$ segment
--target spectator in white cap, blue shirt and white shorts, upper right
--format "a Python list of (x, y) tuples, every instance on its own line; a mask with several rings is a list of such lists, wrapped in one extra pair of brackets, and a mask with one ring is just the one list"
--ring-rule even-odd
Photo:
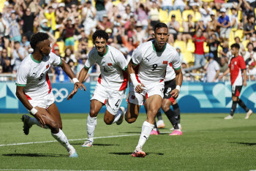
[(218, 26), (220, 26), (220, 37), (223, 39), (229, 39), (230, 37), (230, 18), (226, 15), (226, 9), (222, 8), (220, 9), (221, 16), (218, 19)]

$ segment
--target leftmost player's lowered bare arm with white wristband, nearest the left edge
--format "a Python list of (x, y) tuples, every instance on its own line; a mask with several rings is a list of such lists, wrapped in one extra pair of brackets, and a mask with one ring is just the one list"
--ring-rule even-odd
[(18, 99), (20, 100), (20, 102), (22, 102), (22, 104), (26, 107), (27, 110), (29, 110), (29, 113), (31, 115), (34, 115), (34, 118), (37, 119), (37, 121), (39, 121), (39, 123), (41, 124), (42, 128), (45, 127), (45, 121), (42, 118), (42, 115), (44, 115), (44, 113), (42, 113), (39, 110), (36, 110), (30, 103), (29, 100), (26, 98), (24, 92), (24, 86), (17, 86), (16, 88), (16, 96), (18, 97)]

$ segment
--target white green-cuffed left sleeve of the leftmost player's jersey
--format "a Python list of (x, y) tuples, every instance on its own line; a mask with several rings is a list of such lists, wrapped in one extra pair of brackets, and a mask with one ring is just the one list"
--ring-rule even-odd
[(16, 86), (25, 87), (27, 78), (29, 75), (29, 67), (26, 65), (20, 65), (20, 68), (18, 69), (17, 78), (16, 78)]

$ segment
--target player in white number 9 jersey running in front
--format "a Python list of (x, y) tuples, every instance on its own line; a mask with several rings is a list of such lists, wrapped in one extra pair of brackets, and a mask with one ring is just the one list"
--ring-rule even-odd
[[(174, 98), (178, 97), (183, 78), (178, 53), (174, 47), (166, 43), (169, 37), (167, 25), (157, 23), (153, 36), (155, 40), (145, 42), (135, 49), (128, 64), (128, 72), (132, 83), (129, 87), (126, 121), (128, 123), (136, 121), (144, 99), (146, 99), (144, 106), (147, 111), (147, 118), (142, 126), (140, 140), (132, 153), (134, 157), (146, 156), (142, 148), (154, 128), (154, 119), (162, 104), (167, 65), (172, 63), (176, 72), (177, 86), (176, 89), (170, 92)], [(138, 67), (135, 69), (135, 66)]]

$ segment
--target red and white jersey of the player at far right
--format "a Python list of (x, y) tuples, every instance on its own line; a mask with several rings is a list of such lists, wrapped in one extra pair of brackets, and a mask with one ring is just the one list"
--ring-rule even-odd
[(242, 86), (243, 85), (243, 76), (242, 70), (246, 69), (246, 64), (242, 56), (233, 57), (230, 60), (230, 79), (231, 86)]

